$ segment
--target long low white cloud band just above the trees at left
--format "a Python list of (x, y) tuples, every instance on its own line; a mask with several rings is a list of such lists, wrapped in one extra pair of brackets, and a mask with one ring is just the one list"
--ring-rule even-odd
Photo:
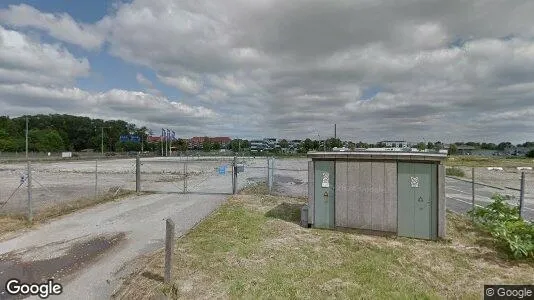
[(112, 89), (88, 92), (79, 88), (52, 88), (28, 84), (0, 84), (0, 106), (12, 114), (31, 109), (58, 113), (91, 113), (109, 118), (142, 120), (174, 127), (209, 124), (218, 118), (213, 110), (151, 95)]

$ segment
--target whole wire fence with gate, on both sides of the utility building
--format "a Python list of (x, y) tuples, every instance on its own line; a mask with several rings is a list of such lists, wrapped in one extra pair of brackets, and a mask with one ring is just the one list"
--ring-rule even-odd
[[(234, 187), (239, 189), (256, 182), (265, 182), (273, 195), (308, 195), (307, 159), (236, 157), (234, 162), (230, 156), (141, 157), (139, 174), (136, 161), (136, 158), (32, 161), (31, 176), (27, 162), (4, 161), (0, 163), (0, 214), (38, 214), (48, 207), (68, 206), (80, 199), (98, 200), (135, 191), (230, 195)], [(234, 165), (242, 169), (234, 169)], [(473, 204), (488, 205), (498, 193), (509, 204), (521, 206), (524, 219), (534, 221), (533, 170), (459, 168), (465, 176), (446, 178), (449, 210), (466, 213)], [(239, 171), (235, 176), (234, 170)]]

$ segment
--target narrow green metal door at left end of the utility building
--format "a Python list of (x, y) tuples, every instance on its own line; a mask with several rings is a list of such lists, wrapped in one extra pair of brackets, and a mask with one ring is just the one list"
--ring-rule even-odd
[(315, 161), (314, 227), (334, 228), (334, 161)]

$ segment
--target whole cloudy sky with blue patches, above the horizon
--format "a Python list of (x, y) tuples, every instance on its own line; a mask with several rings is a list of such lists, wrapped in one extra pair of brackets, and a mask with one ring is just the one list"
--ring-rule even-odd
[(531, 0), (2, 0), (0, 114), (184, 137), (534, 140)]

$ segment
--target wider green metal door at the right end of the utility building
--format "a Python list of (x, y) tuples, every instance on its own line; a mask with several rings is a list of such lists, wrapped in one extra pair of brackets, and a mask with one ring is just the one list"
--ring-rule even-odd
[(437, 236), (437, 168), (435, 164), (398, 163), (397, 232), (399, 236)]

